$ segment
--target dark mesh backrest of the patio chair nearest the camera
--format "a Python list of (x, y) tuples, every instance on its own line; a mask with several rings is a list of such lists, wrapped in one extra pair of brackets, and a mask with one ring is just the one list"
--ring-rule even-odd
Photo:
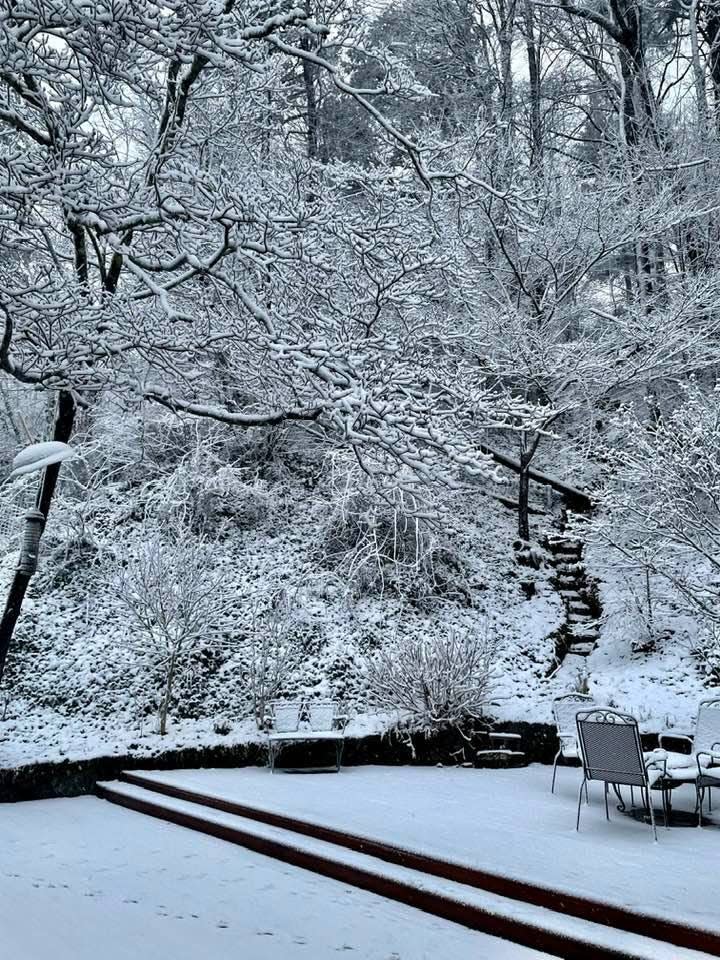
[(578, 740), (588, 780), (645, 786), (647, 773), (637, 720), (607, 707), (581, 710)]

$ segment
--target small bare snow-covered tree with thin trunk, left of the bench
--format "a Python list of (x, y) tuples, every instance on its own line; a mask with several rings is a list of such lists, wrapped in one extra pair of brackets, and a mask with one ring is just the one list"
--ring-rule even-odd
[(213, 545), (186, 539), (180, 529), (151, 535), (113, 586), (128, 610), (141, 663), (160, 672), (159, 732), (167, 718), (175, 681), (203, 646), (220, 642), (231, 598), (223, 570), (213, 566)]

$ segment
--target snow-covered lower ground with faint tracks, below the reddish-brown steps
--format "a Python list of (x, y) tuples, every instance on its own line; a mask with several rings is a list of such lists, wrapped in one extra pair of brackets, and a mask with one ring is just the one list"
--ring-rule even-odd
[(93, 797), (8, 804), (2, 821), (14, 960), (544, 956)]

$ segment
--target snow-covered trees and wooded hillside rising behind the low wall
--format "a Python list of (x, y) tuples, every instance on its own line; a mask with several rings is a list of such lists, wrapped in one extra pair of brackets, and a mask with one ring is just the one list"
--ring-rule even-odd
[[(468, 687), (548, 719), (584, 609), (543, 546), (568, 505), (582, 682), (619, 671), (648, 716), (717, 682), (720, 18), (370, 7), (0, 3), (0, 455), (80, 454), (38, 501), (15, 731), (362, 712), (369, 662), (453, 675), (481, 636)], [(169, 685), (108, 586), (155, 536), (146, 613), (212, 542)]]

